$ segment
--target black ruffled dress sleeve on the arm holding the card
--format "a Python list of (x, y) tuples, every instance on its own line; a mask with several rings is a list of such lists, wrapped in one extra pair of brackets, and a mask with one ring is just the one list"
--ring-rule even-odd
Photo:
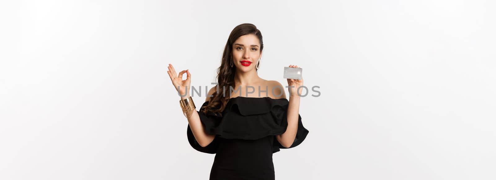
[[(275, 116), (276, 119), (279, 120), (280, 126), (284, 128), (284, 132), (286, 132), (286, 129), (288, 127), (288, 103), (283, 103), (281, 105), (276, 105), (273, 106), (271, 109), (271, 113), (273, 116)], [(300, 145), (307, 135), (309, 134), (309, 130), (307, 130), (302, 123), (302, 116), (298, 114), (298, 130), (296, 131), (296, 137), (295, 141), (293, 141), (293, 144), (291, 144), (290, 147), (284, 147), (279, 143), (277, 138), (274, 136), (274, 145), (272, 148), (272, 153), (280, 151), (280, 149), (288, 149), (292, 147), (296, 147)]]

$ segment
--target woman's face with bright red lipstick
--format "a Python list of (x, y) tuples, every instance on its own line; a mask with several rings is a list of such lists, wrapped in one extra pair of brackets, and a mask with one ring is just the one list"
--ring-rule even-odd
[(233, 60), (238, 70), (248, 72), (256, 69), (256, 63), (262, 55), (260, 41), (255, 35), (249, 34), (238, 38), (233, 43)]

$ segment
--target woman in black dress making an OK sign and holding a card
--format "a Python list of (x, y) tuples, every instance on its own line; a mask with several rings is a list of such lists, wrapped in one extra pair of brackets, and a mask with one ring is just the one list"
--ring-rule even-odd
[[(309, 133), (299, 114), (302, 88), (297, 90), (303, 79), (288, 79), (286, 99), (279, 82), (258, 77), (262, 49), (262, 34), (254, 25), (235, 27), (218, 68), (218, 84), (208, 91), (199, 111), (186, 90), (191, 87), (189, 70), (178, 75), (169, 64), (167, 73), (182, 95), (189, 144), (200, 152), (215, 153), (210, 180), (274, 180), (272, 154), (299, 145)], [(243, 92), (249, 86), (250, 95)]]

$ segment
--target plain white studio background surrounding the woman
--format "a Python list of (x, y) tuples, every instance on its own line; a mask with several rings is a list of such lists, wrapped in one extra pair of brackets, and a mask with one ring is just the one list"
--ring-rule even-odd
[(210, 88), (229, 33), (252, 23), (259, 76), (287, 86), (296, 64), (321, 92), (301, 100), (307, 139), (273, 155), (277, 180), (495, 180), (495, 8), (2, 1), (0, 179), (207, 180), (214, 154), (188, 144), (167, 64)]

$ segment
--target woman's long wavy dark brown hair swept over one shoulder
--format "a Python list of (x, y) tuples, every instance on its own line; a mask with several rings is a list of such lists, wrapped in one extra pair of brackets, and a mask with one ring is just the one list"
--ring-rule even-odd
[[(235, 88), (234, 76), (236, 74), (236, 66), (231, 67), (230, 63), (233, 61), (233, 44), (234, 42), (244, 35), (255, 35), (260, 41), (260, 52), (263, 50), (262, 33), (256, 29), (253, 24), (245, 23), (236, 26), (229, 38), (227, 39), (224, 53), (222, 53), (222, 60), (220, 67), (217, 68), (217, 85), (218, 90), (210, 97), (208, 105), (204, 106), (203, 113), (222, 114), (227, 102), (229, 101), (230, 87)], [(260, 61), (258, 61), (260, 63)], [(256, 70), (258, 71), (258, 70)], [(227, 98), (224, 96), (224, 90)]]

